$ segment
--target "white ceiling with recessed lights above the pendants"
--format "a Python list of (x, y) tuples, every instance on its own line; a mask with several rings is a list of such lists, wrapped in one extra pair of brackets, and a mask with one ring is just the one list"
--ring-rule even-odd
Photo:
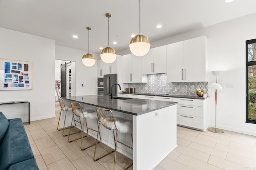
[[(141, 0), (141, 34), (151, 42), (256, 12), (256, 0)], [(139, 0), (0, 0), (0, 27), (54, 39), (56, 45), (100, 53), (129, 49), (139, 33)], [(156, 25), (162, 28), (157, 29)], [(72, 36), (77, 35), (74, 39)], [(112, 44), (116, 41), (117, 44)]]

